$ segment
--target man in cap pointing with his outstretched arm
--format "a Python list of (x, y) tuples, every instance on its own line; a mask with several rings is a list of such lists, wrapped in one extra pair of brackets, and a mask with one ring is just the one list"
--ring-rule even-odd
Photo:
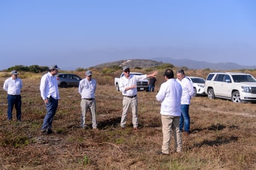
[(126, 127), (127, 112), (129, 107), (132, 109), (132, 124), (134, 130), (138, 130), (138, 114), (137, 114), (137, 81), (141, 81), (145, 78), (157, 76), (157, 71), (153, 74), (145, 75), (130, 75), (129, 66), (124, 66), (122, 69), (124, 76), (119, 80), (119, 89), (124, 96), (122, 101), (122, 118), (121, 118), (121, 128)]

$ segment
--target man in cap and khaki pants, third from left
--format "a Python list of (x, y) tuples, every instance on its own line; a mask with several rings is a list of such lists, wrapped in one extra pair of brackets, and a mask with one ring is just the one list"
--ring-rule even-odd
[(85, 118), (86, 111), (89, 109), (89, 113), (91, 114), (91, 123), (93, 123), (92, 127), (94, 130), (98, 130), (97, 128), (97, 120), (96, 120), (96, 101), (95, 91), (97, 88), (96, 80), (91, 78), (93, 73), (91, 70), (85, 72), (85, 79), (82, 79), (79, 83), (78, 92), (81, 95), (81, 127), (87, 128)]

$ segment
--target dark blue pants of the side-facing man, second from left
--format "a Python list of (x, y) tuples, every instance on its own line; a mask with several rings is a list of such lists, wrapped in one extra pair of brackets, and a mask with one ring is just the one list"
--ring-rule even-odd
[(53, 99), (52, 97), (48, 98), (48, 103), (45, 104), (47, 113), (45, 119), (43, 120), (42, 129), (52, 129), (52, 121), (55, 115), (55, 112), (58, 107), (58, 99)]

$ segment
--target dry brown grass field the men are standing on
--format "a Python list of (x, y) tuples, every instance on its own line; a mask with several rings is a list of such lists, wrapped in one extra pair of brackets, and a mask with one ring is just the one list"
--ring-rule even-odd
[[(81, 73), (83, 77), (83, 73)], [(207, 74), (206, 74), (207, 75)], [(20, 74), (22, 77), (22, 74)], [(41, 135), (45, 107), (40, 75), (24, 78), (22, 122), (7, 122), (7, 95), (0, 78), (0, 169), (255, 169), (256, 105), (194, 97), (190, 105), (191, 134), (183, 151), (160, 156), (162, 125), (157, 92), (138, 92), (139, 131), (120, 128), (122, 94), (111, 85), (96, 91), (99, 131), (80, 128), (77, 87), (60, 89), (52, 135)], [(94, 77), (100, 81), (100, 76)], [(159, 76), (158, 86), (163, 77)], [(14, 117), (15, 117), (14, 109)], [(90, 123), (89, 114), (86, 115)], [(173, 150), (173, 139), (171, 140)]]

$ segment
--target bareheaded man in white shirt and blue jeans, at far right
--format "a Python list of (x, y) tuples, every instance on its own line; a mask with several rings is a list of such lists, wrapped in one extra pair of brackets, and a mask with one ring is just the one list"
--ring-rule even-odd
[(183, 90), (181, 97), (180, 132), (182, 132), (184, 125), (184, 132), (187, 136), (190, 134), (190, 114), (188, 111), (190, 109), (190, 100), (194, 94), (194, 87), (190, 79), (186, 78), (183, 69), (177, 71), (176, 81), (181, 84)]

